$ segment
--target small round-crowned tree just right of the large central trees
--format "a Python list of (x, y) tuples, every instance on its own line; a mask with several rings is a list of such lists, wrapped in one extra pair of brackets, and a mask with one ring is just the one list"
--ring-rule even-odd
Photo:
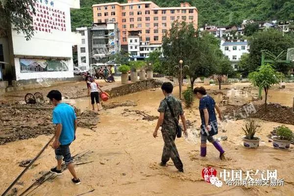
[(216, 76), (219, 82), (219, 89), (221, 90), (221, 83), (223, 82), (223, 76), (231, 74), (233, 72), (233, 68), (231, 62), (228, 58), (221, 55), (221, 58), (217, 59), (217, 66), (216, 66)]

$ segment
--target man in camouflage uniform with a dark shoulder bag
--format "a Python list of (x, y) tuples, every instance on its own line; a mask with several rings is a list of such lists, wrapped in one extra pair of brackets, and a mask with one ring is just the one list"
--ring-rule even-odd
[(170, 103), (177, 120), (179, 120), (179, 117), (181, 117), (182, 123), (184, 125), (184, 133), (186, 133), (186, 119), (182, 108), (182, 103), (177, 98), (174, 98), (172, 96), (173, 86), (171, 82), (163, 83), (161, 89), (163, 91), (165, 99), (160, 102), (160, 106), (158, 108), (158, 112), (160, 113), (160, 115), (155, 131), (153, 133), (153, 137), (156, 138), (157, 131), (159, 127), (162, 126), (161, 133), (164, 140), (164, 147), (160, 165), (166, 166), (166, 163), (171, 158), (176, 169), (178, 169), (180, 172), (184, 172), (182, 161), (174, 143), (176, 137), (176, 124), (172, 118), (172, 113), (170, 111), (170, 108), (168, 107), (167, 101)]

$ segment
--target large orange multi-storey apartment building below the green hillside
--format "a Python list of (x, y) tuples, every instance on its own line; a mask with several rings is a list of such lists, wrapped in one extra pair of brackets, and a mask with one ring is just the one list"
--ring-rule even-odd
[[(94, 23), (111, 21), (118, 24), (120, 43), (122, 48), (128, 49), (130, 55), (133, 54), (131, 57), (146, 57), (145, 48), (148, 47), (141, 47), (146, 43), (161, 45), (163, 36), (176, 20), (193, 23), (197, 28), (198, 11), (187, 2), (181, 3), (180, 7), (159, 7), (152, 1), (128, 0), (127, 3), (101, 3), (92, 7)], [(135, 49), (136, 44), (131, 43), (130, 38), (138, 39), (140, 47)], [(128, 45), (134, 46), (131, 49)]]

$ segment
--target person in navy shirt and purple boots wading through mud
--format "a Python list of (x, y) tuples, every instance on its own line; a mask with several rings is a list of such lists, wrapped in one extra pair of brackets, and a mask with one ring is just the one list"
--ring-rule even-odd
[(221, 145), (213, 138), (213, 135), (218, 134), (218, 121), (216, 117), (215, 108), (219, 113), (221, 120), (221, 110), (214, 99), (207, 95), (204, 87), (197, 87), (194, 89), (194, 94), (199, 100), (199, 112), (201, 117), (201, 146), (200, 156), (206, 156), (206, 142), (207, 140), (213, 144), (215, 148), (220, 151), (220, 159), (224, 159), (224, 150)]

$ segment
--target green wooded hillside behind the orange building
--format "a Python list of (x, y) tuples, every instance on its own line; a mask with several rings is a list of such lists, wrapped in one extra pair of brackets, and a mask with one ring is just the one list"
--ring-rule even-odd
[[(179, 6), (183, 0), (153, 0), (162, 7)], [(72, 28), (91, 26), (92, 5), (104, 2), (126, 2), (126, 0), (80, 0), (81, 9), (73, 10)], [(294, 19), (294, 0), (186, 0), (196, 6), (199, 25), (240, 24), (243, 19), (290, 20)], [(231, 15), (231, 23), (230, 23)]]

